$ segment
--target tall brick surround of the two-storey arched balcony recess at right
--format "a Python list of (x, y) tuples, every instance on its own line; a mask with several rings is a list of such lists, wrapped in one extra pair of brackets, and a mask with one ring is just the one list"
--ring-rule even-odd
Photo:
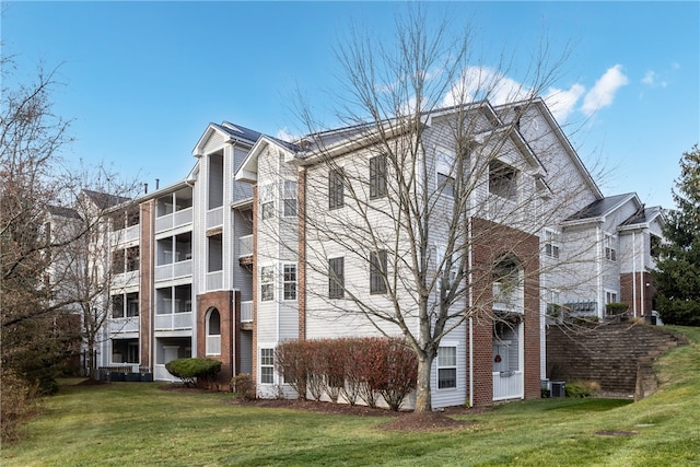
[(539, 374), (539, 238), (505, 225), (472, 219), (474, 317), (474, 405), (493, 400), (492, 343), (493, 312), (492, 275), (499, 258), (510, 256), (523, 268), (524, 305), (524, 394), (540, 397)]

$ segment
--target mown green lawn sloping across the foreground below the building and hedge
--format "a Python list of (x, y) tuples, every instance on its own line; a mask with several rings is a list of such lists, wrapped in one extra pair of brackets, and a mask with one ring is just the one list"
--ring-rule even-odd
[[(700, 328), (657, 363), (660, 390), (635, 404), (539, 399), (459, 416), (459, 431), (396, 433), (387, 418), (223, 404), (158, 384), (61, 387), (18, 444), (9, 466), (586, 465), (700, 464)], [(629, 435), (602, 435), (612, 432)], [(634, 433), (634, 434), (632, 434)]]

